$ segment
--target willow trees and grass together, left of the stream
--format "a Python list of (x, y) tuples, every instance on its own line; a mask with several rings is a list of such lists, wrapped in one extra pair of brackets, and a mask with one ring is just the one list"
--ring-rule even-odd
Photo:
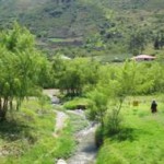
[(54, 163), (69, 156), (75, 145), (72, 129), (68, 122), (59, 138), (52, 136), (55, 114), (42, 95), (49, 62), (32, 34), (14, 24), (1, 33), (0, 51), (1, 163)]

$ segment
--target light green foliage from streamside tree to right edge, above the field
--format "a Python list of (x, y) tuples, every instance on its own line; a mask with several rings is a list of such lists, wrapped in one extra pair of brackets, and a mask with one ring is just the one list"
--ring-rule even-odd
[(101, 122), (99, 129), (102, 128), (101, 133), (97, 132), (97, 143), (102, 143), (104, 136), (115, 136), (121, 131), (120, 113), (127, 96), (162, 92), (164, 73), (161, 69), (159, 62), (133, 61), (126, 61), (119, 67), (101, 67), (101, 79), (96, 87), (87, 93), (87, 97), (92, 99), (87, 110), (89, 118)]

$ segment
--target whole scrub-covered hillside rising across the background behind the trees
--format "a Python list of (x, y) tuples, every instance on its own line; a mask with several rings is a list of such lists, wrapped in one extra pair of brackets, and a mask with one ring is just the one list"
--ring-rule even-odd
[(106, 45), (127, 52), (133, 33), (147, 33), (150, 43), (163, 31), (163, 7), (164, 0), (0, 0), (0, 27), (16, 20), (45, 47)]

